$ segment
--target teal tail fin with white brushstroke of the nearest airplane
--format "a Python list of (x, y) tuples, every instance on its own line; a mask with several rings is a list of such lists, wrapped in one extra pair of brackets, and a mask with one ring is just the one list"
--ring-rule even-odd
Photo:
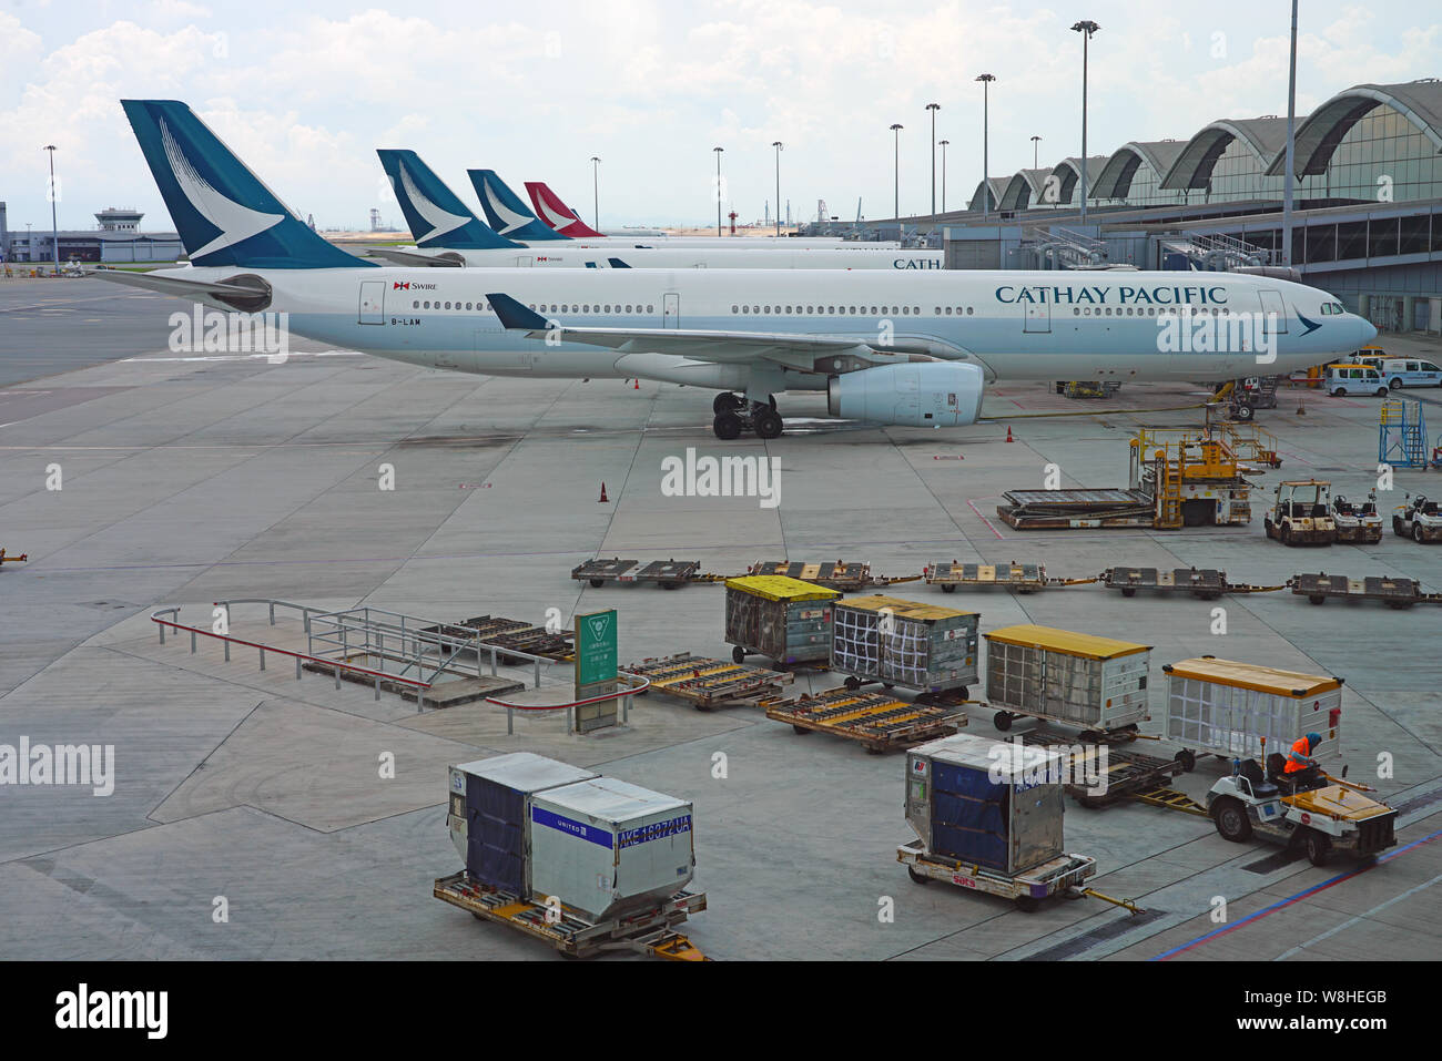
[(307, 228), (183, 102), (120, 105), (193, 265), (373, 267)]

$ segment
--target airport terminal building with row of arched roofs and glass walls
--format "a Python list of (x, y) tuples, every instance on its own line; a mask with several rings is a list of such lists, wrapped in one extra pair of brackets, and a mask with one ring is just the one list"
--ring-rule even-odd
[[(1355, 85), (1295, 130), (1289, 264), (1383, 330), (1442, 333), (1442, 81)], [(868, 225), (930, 234), (950, 268), (1283, 265), (1285, 167), (1285, 117), (1218, 118), (988, 177), (966, 210)]]

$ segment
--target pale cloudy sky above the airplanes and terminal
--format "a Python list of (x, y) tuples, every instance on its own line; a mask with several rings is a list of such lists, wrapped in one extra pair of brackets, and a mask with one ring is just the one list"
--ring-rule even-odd
[[(714, 223), (722, 147), (727, 210), (747, 222), (776, 197), (776, 140), (783, 213), (789, 199), (812, 219), (823, 199), (851, 219), (859, 199), (884, 218), (895, 185), (903, 213), (930, 210), (937, 102), (956, 209), (982, 176), (978, 74), (996, 76), (994, 176), (1032, 164), (1032, 136), (1043, 166), (1080, 154), (1079, 19), (1100, 25), (1092, 154), (1286, 114), (1282, 0), (0, 0), (0, 200), (12, 229), (49, 226), (55, 144), (62, 229), (105, 206), (170, 229), (118, 101), (172, 98), (320, 228), (365, 228), (371, 208), (404, 228), (376, 147), (417, 150), (473, 209), (464, 172), (492, 167), (522, 195), (548, 182), (587, 221), (597, 156), (603, 226)], [(1299, 115), (1355, 84), (1423, 76), (1442, 76), (1442, 9), (1302, 0)]]

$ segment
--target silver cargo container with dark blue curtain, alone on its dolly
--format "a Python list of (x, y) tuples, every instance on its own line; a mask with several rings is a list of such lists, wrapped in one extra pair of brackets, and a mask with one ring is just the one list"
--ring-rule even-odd
[(906, 761), (906, 819), (927, 853), (1012, 876), (1064, 853), (1060, 753), (956, 734)]

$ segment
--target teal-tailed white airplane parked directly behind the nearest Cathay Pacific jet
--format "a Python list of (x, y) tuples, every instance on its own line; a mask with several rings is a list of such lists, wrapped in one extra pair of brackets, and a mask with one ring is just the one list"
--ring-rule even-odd
[[(831, 247), (766, 248), (750, 239), (725, 247), (658, 241), (655, 247), (590, 247), (581, 241), (525, 247), (496, 235), (415, 151), (379, 148), (415, 247), (376, 247), (371, 255), (397, 265), (534, 268), (766, 268), (766, 270), (939, 270), (946, 255), (927, 249)], [(539, 222), (536, 222), (539, 223)]]

